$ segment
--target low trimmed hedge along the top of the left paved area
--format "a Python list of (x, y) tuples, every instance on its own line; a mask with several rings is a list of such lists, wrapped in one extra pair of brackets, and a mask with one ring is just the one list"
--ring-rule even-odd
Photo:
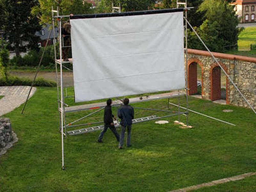
[[(0, 78), (0, 86), (18, 86), (18, 85), (27, 85), (31, 86), (32, 80), (28, 78), (20, 78), (17, 76), (9, 76), (8, 81), (3, 77)], [(55, 87), (57, 84), (54, 81), (48, 81), (44, 78), (37, 78), (33, 86), (36, 87)]]

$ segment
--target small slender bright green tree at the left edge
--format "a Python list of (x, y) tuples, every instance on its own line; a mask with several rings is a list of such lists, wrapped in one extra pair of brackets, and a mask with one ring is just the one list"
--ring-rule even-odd
[(9, 51), (6, 49), (6, 44), (4, 41), (0, 42), (0, 71), (5, 81), (8, 81), (8, 64), (9, 64)]

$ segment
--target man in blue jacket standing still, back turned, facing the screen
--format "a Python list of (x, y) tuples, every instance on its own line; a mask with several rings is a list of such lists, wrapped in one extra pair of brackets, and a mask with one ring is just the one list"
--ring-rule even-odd
[(121, 133), (120, 133), (120, 142), (119, 142), (119, 149), (123, 148), (124, 143), (124, 132), (127, 127), (127, 140), (126, 146), (131, 147), (131, 130), (132, 130), (132, 119), (134, 119), (134, 110), (133, 108), (128, 105), (129, 99), (124, 99), (124, 105), (121, 106), (118, 110), (118, 117), (121, 119), (120, 124), (122, 125)]

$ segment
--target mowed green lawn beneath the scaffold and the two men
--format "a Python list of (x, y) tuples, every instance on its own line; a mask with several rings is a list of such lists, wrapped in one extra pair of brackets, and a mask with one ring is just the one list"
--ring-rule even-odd
[[(171, 102), (177, 104), (178, 99)], [(185, 106), (184, 97), (180, 102)], [(167, 109), (167, 100), (132, 106)], [(193, 129), (174, 125), (178, 116), (165, 118), (170, 123), (164, 125), (134, 124), (132, 148), (123, 150), (117, 149), (110, 130), (104, 143), (96, 142), (100, 132), (68, 136), (64, 140), (66, 170), (62, 171), (56, 88), (37, 88), (24, 115), (20, 115), (22, 106), (5, 115), (11, 118), (19, 141), (0, 157), (0, 191), (169, 191), (256, 171), (256, 118), (251, 110), (192, 97), (189, 106), (236, 126), (192, 113)], [(234, 111), (224, 113), (223, 109)], [(67, 123), (91, 112), (69, 114)], [(154, 114), (167, 115), (135, 110), (136, 118)], [(180, 119), (185, 122), (185, 116)], [(100, 120), (102, 112), (86, 122)], [(242, 182), (241, 189), (251, 191), (255, 189), (252, 179), (232, 182), (232, 186)]]

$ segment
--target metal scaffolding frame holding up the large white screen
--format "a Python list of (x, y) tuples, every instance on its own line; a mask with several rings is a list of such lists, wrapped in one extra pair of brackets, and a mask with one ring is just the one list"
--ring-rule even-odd
[[(150, 120), (155, 120), (155, 119), (160, 119), (160, 118), (165, 118), (165, 117), (170, 117), (170, 116), (178, 116), (178, 119), (180, 121), (180, 115), (185, 115), (186, 116), (186, 124), (188, 126), (188, 113), (190, 111), (190, 112), (194, 112), (196, 114), (203, 115), (205, 117), (208, 117), (208, 118), (220, 121), (222, 123), (227, 123), (227, 124), (235, 126), (235, 124), (231, 124), (231, 123), (222, 121), (220, 119), (217, 119), (217, 118), (214, 118), (214, 117), (211, 117), (211, 116), (206, 116), (204, 114), (201, 114), (201, 113), (198, 113), (198, 112), (195, 112), (195, 111), (192, 111), (192, 110), (188, 109), (188, 79), (187, 79), (187, 77), (188, 77), (188, 24), (189, 23), (188, 23), (188, 20), (187, 20), (187, 11), (189, 9), (193, 8), (193, 7), (187, 7), (187, 0), (185, 2), (178, 2), (177, 1), (177, 8), (179, 8), (180, 5), (184, 5), (184, 8), (182, 8), (182, 9), (183, 9), (183, 11), (185, 11), (185, 17), (184, 17), (184, 21), (185, 21), (185, 26), (184, 26), (184, 29), (185, 29), (185, 35), (184, 35), (184, 38), (185, 38), (185, 48), (184, 48), (184, 51), (185, 51), (185, 55), (186, 55), (186, 66), (185, 66), (185, 94), (183, 94), (183, 95), (186, 96), (186, 108), (183, 108), (183, 107), (180, 106), (180, 90), (178, 90), (178, 95), (176, 95), (176, 96), (168, 95), (166, 97), (161, 97), (161, 98), (159, 98), (159, 97), (148, 98), (147, 97), (144, 100), (133, 101), (133, 102), (130, 102), (130, 103), (143, 102), (143, 101), (156, 100), (156, 99), (168, 99), (168, 101), (167, 101), (168, 109), (169, 109), (169, 105), (173, 105), (175, 107), (178, 107), (178, 111), (169, 111), (169, 110), (160, 110), (160, 109), (152, 109), (152, 108), (134, 107), (136, 109), (142, 109), (142, 110), (152, 110), (152, 111), (162, 111), (162, 112), (172, 113), (171, 115), (165, 115), (165, 116), (161, 116), (161, 117), (157, 117), (157, 116), (154, 116), (152, 118), (142, 117), (142, 118), (139, 118), (139, 119), (141, 119), (141, 121), (136, 120), (135, 123), (145, 122), (145, 121), (150, 121)], [(152, 12), (152, 11), (144, 11), (144, 13), (145, 12)], [(55, 16), (54, 13), (56, 13), (57, 15)], [(122, 13), (118, 12), (118, 13), (110, 13), (110, 14), (115, 14), (115, 16), (119, 16), (119, 15), (116, 15), (116, 14), (120, 14), (120, 16), (121, 16)], [(92, 18), (93, 15), (94, 14), (90, 15), (90, 17)], [(123, 16), (127, 15), (127, 13), (123, 13), (122, 15)], [(68, 107), (68, 108), (65, 107), (65, 106), (68, 106), (68, 105), (65, 103), (65, 100), (64, 100), (65, 97), (64, 97), (64, 92), (63, 92), (64, 86), (63, 86), (63, 70), (62, 69), (65, 68), (65, 66), (63, 65), (64, 63), (72, 63), (72, 59), (69, 59), (68, 61), (63, 61), (62, 60), (62, 48), (63, 48), (63, 46), (62, 46), (62, 38), (61, 38), (61, 36), (62, 36), (61, 35), (61, 20), (62, 20), (62, 18), (67, 18), (67, 17), (69, 17), (69, 15), (61, 16), (61, 15), (59, 15), (59, 9), (57, 8), (57, 10), (53, 10), (53, 7), (52, 7), (52, 27), (53, 27), (53, 33), (55, 33), (55, 30), (54, 30), (54, 28), (55, 28), (55, 19), (57, 19), (57, 21), (58, 21), (58, 29), (59, 29), (59, 46), (60, 46), (59, 47), (59, 52), (60, 52), (60, 59), (57, 59), (57, 51), (56, 51), (56, 43), (57, 43), (57, 41), (55, 39), (55, 34), (54, 34), (53, 43), (54, 43), (54, 58), (55, 58), (55, 70), (56, 70), (56, 82), (57, 82), (57, 97), (58, 97), (57, 98), (57, 102), (58, 102), (58, 112), (59, 112), (59, 117), (60, 117), (59, 118), (60, 119), (59, 131), (61, 132), (62, 170), (65, 169), (65, 167), (64, 167), (64, 136), (67, 137), (67, 128), (103, 123), (102, 121), (100, 121), (100, 122), (92, 122), (92, 123), (84, 123), (84, 124), (73, 125), (74, 123), (77, 123), (77, 122), (81, 121), (82, 119), (85, 119), (85, 118), (87, 118), (89, 116), (92, 116), (92, 115), (98, 113), (99, 111), (104, 109), (104, 107), (106, 105), (105, 102), (102, 102), (102, 103), (94, 103), (94, 104), (91, 104), (91, 105), (90, 104), (80, 105), (81, 108), (79, 108), (79, 106), (76, 106), (78, 108), (75, 108), (75, 109), (72, 109), (72, 107)], [(96, 17), (96, 14), (95, 14), (94, 17)], [(59, 86), (59, 82), (58, 82), (58, 65), (60, 65), (60, 86)], [(179, 105), (175, 105), (175, 104), (169, 102), (169, 99), (172, 98), (172, 97), (178, 97), (179, 98), (179, 100), (178, 100)], [(66, 98), (67, 98), (67, 94), (66, 94)], [(117, 98), (117, 100), (115, 100), (113, 102), (112, 106), (118, 107), (121, 104), (122, 104), (122, 100)], [(184, 109), (185, 112), (181, 112), (180, 108)], [(91, 109), (97, 109), (97, 110), (93, 111), (92, 113), (90, 113), (88, 115), (85, 115), (85, 116), (83, 116), (83, 117), (81, 117), (81, 118), (79, 118), (79, 119), (77, 119), (77, 120), (75, 120), (75, 121), (73, 121), (71, 123), (66, 124), (66, 113), (78, 112), (78, 111), (83, 111), (83, 110), (91, 110)], [(118, 123), (115, 124), (115, 125), (119, 126)], [(100, 128), (100, 126), (98, 126), (98, 127)], [(97, 130), (100, 130), (100, 129), (97, 129)], [(77, 130), (74, 130), (74, 131), (77, 131)], [(94, 131), (94, 130), (92, 129), (92, 131)], [(72, 131), (69, 131), (69, 132), (72, 132)], [(91, 132), (91, 131), (88, 131), (88, 132)], [(82, 133), (83, 132), (78, 132), (77, 134), (82, 134)]]

